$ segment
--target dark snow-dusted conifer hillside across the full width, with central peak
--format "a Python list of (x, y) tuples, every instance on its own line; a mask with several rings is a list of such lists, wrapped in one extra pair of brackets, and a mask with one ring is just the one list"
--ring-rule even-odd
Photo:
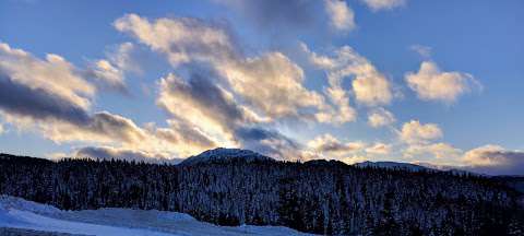
[[(158, 165), (0, 155), (0, 194), (60, 210), (124, 209), (114, 214), (117, 222), (127, 222), (133, 209), (323, 235), (524, 232), (524, 194), (489, 177), (335, 161), (275, 162), (231, 150), (198, 156), (195, 165)], [(141, 224), (147, 221), (155, 220)]]

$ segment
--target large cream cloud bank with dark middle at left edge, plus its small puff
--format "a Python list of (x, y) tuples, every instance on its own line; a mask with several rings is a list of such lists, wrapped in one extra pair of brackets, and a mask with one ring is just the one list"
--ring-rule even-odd
[[(108, 61), (97, 64), (100, 76), (121, 82)], [(134, 145), (147, 134), (128, 118), (107, 111), (90, 113), (96, 88), (85, 70), (64, 58), (46, 60), (0, 44), (0, 115), (21, 130), (36, 130), (55, 142)]]

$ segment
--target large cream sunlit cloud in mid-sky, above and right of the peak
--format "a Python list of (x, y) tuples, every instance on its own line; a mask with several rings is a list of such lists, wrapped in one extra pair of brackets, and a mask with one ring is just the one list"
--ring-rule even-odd
[(236, 94), (274, 118), (299, 117), (320, 108), (323, 97), (303, 86), (303, 71), (281, 52), (217, 66)]

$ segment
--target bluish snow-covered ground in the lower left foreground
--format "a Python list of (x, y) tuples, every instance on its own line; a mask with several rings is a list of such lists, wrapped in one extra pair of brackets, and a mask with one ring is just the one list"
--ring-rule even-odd
[(130, 209), (61, 211), (0, 196), (0, 227), (80, 235), (307, 235), (279, 226), (216, 226), (188, 214)]

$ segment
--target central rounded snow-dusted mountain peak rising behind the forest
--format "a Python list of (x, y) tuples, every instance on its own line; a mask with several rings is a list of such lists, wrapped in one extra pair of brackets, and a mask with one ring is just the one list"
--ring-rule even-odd
[(184, 161), (182, 161), (179, 165), (187, 166), (187, 165), (196, 165), (201, 163), (230, 162), (230, 161), (239, 161), (239, 160), (245, 162), (274, 161), (271, 157), (264, 156), (260, 153), (257, 153), (250, 150), (217, 148), (214, 150), (207, 150), (199, 155), (190, 156)]

